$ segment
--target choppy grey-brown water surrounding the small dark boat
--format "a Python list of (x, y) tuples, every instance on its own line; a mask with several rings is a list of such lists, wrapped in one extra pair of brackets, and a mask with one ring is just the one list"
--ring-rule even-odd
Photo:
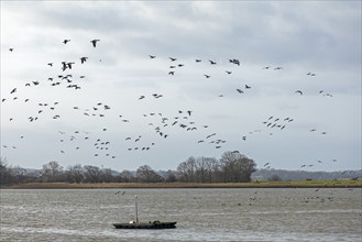
[[(362, 189), (1, 190), (1, 241), (362, 241)], [(172, 230), (117, 230), (134, 220)]]

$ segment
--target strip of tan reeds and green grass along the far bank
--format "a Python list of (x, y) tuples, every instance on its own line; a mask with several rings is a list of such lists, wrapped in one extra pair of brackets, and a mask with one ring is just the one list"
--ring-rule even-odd
[(293, 180), (251, 183), (29, 183), (2, 186), (1, 189), (135, 189), (135, 188), (362, 188), (358, 180)]

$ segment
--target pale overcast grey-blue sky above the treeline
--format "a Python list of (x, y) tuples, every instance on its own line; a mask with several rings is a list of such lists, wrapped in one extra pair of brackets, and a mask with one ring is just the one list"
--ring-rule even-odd
[(360, 1), (1, 1), (9, 164), (176, 169), (227, 151), (361, 169)]

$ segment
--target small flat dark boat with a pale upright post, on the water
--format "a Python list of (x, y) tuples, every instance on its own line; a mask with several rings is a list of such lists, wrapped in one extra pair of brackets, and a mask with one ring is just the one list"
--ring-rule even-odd
[(175, 229), (177, 222), (139, 222), (138, 196), (135, 196), (135, 221), (113, 223), (116, 229)]

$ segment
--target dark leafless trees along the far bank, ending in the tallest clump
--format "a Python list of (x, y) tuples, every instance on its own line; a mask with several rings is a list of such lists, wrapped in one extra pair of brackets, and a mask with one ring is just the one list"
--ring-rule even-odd
[(75, 164), (64, 168), (58, 162), (44, 164), (40, 174), (29, 174), (19, 166), (0, 161), (0, 185), (22, 183), (248, 183), (256, 164), (239, 152), (226, 152), (220, 160), (189, 157), (176, 170), (157, 173), (149, 165), (136, 172), (100, 168), (94, 165)]

